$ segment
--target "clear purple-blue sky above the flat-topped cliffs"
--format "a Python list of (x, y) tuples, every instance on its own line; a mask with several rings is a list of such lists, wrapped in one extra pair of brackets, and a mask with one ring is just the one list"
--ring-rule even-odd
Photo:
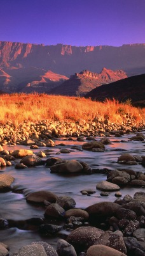
[(35, 44), (145, 43), (145, 0), (1, 0), (0, 40)]

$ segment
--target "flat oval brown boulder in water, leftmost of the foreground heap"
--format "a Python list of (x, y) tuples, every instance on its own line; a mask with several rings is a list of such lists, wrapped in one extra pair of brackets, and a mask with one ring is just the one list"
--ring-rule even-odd
[(32, 192), (29, 195), (27, 195), (26, 200), (27, 202), (31, 202), (31, 203), (44, 203), (44, 201), (48, 201), (51, 203), (56, 202), (58, 196), (55, 195), (54, 193), (50, 192), (50, 191), (36, 191), (36, 192)]

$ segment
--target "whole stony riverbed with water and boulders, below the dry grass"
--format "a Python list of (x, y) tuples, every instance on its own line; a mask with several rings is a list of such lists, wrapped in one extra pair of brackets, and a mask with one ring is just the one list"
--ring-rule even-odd
[(145, 255), (144, 134), (130, 119), (1, 125), (1, 255)]

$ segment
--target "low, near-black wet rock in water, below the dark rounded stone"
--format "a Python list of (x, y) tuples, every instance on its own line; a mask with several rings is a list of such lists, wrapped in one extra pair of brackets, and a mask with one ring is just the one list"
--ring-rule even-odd
[(39, 227), (39, 232), (43, 235), (50, 235), (50, 234), (56, 234), (62, 229), (61, 226), (58, 225), (52, 225), (52, 224), (42, 224)]

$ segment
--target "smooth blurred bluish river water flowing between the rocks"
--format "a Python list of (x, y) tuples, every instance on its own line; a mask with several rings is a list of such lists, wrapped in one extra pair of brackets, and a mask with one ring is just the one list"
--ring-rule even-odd
[[(144, 131), (143, 131), (144, 132)], [(144, 132), (145, 133), (145, 132)], [(118, 157), (123, 153), (130, 153), (132, 155), (145, 156), (145, 143), (141, 141), (128, 141), (132, 134), (125, 134), (121, 138), (111, 136), (112, 144), (106, 145), (105, 152), (90, 152), (81, 150), (83, 142), (79, 142), (76, 138), (73, 140), (64, 140), (64, 138), (56, 140), (56, 146), (52, 149), (49, 157), (61, 157), (62, 159), (76, 159), (78, 161), (84, 161), (89, 164), (90, 167), (95, 169), (114, 170), (116, 168), (128, 168), (135, 172), (145, 172), (145, 168), (141, 164), (137, 165), (121, 165), (117, 163)], [(96, 137), (99, 140), (99, 137)], [(64, 143), (66, 146), (59, 145)], [(78, 146), (78, 149), (73, 149), (72, 146)], [(5, 147), (4, 149), (18, 149), (29, 148), (26, 146), (14, 146)], [(56, 153), (60, 151), (60, 148), (71, 149), (69, 154)], [(48, 148), (47, 148), (48, 149)], [(46, 147), (41, 147), (37, 150), (33, 150), (35, 153), (39, 150), (46, 150)], [(20, 160), (17, 159), (17, 162)], [(15, 165), (1, 169), (1, 173), (7, 173), (15, 177), (13, 186), (17, 188), (19, 193), (13, 193), (9, 191), (7, 193), (0, 193), (0, 218), (11, 220), (13, 225), (10, 228), (0, 230), (0, 242), (8, 244), (10, 246), (10, 255), (13, 252), (17, 252), (18, 248), (31, 244), (33, 241), (46, 241), (47, 243), (56, 246), (58, 236), (41, 237), (38, 230), (27, 230), (24, 228), (25, 220), (30, 218), (44, 218), (45, 207), (40, 205), (28, 204), (25, 200), (25, 195), (29, 192), (47, 190), (52, 191), (57, 195), (72, 196), (76, 200), (76, 207), (85, 209), (89, 205), (102, 201), (114, 202), (116, 197), (114, 192), (109, 196), (100, 196), (100, 191), (96, 190), (96, 193), (87, 196), (82, 195), (81, 190), (96, 189), (97, 182), (106, 180), (106, 174), (93, 173), (92, 175), (83, 175), (82, 173), (75, 175), (58, 175), (56, 173), (50, 173), (50, 168), (45, 166), (34, 166), (24, 170), (15, 170)], [(20, 191), (23, 191), (20, 193)], [(121, 189), (122, 196), (133, 196), (136, 191), (144, 191), (144, 188), (132, 188), (126, 186)], [(58, 224), (58, 223), (56, 223)], [(26, 229), (26, 230), (25, 230)]]

